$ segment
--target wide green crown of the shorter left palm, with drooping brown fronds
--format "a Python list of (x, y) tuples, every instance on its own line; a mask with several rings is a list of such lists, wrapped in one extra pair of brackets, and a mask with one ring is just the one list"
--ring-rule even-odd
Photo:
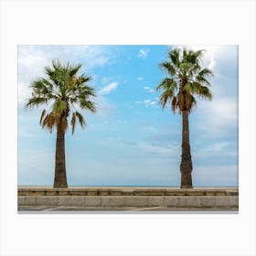
[[(70, 107), (96, 112), (95, 103), (91, 101), (96, 96), (94, 89), (87, 84), (91, 77), (79, 75), (81, 64), (62, 64), (58, 59), (52, 60), (51, 67), (45, 67), (47, 77), (34, 80), (31, 83), (31, 98), (26, 107), (35, 107), (50, 103), (50, 111), (43, 110), (40, 116), (42, 128), (52, 132), (53, 128), (61, 129), (64, 133), (68, 129)], [(86, 124), (80, 112), (73, 112), (71, 117), (72, 133), (76, 126), (76, 119), (84, 127)]]

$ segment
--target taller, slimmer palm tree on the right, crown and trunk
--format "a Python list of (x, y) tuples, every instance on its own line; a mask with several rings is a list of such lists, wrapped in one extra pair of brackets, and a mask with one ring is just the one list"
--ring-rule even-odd
[(157, 86), (162, 90), (160, 104), (165, 108), (170, 103), (172, 111), (182, 114), (182, 155), (181, 155), (181, 188), (192, 188), (192, 160), (190, 154), (188, 115), (196, 106), (195, 95), (211, 100), (208, 76), (212, 71), (201, 67), (204, 50), (175, 48), (169, 51), (168, 60), (160, 64), (169, 78), (165, 78)]

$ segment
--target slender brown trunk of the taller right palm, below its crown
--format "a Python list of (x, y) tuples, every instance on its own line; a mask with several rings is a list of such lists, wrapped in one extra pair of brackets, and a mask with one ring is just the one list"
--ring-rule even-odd
[(192, 188), (192, 160), (189, 144), (188, 112), (182, 112), (182, 155), (181, 155), (181, 186), (180, 188)]

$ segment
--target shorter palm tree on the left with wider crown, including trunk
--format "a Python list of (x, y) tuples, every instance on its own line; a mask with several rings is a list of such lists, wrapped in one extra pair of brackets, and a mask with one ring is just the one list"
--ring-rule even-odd
[(27, 101), (27, 107), (48, 105), (41, 113), (40, 124), (51, 133), (57, 130), (55, 177), (53, 187), (68, 187), (65, 161), (65, 133), (68, 129), (68, 118), (74, 133), (76, 122), (81, 127), (86, 122), (79, 109), (95, 112), (95, 105), (91, 97), (95, 96), (94, 89), (87, 85), (91, 80), (84, 74), (78, 75), (81, 65), (62, 65), (59, 61), (52, 61), (52, 68), (46, 67), (47, 78), (40, 78), (31, 83), (32, 97)]

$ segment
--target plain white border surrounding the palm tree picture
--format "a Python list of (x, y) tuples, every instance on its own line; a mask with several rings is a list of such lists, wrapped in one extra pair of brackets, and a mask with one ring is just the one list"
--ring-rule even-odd
[[(1, 255), (256, 255), (255, 24), (253, 0), (2, 1)], [(240, 213), (18, 215), (19, 44), (239, 45)]]

